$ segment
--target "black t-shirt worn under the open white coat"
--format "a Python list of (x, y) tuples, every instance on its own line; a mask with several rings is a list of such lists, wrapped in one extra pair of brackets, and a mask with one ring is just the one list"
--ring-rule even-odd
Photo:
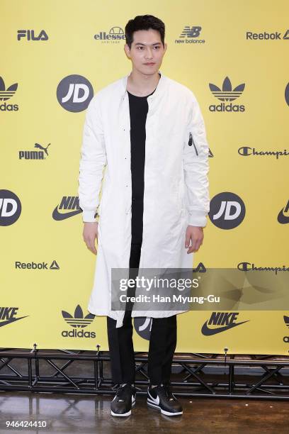
[(130, 169), (132, 172), (132, 243), (142, 243), (145, 189), (145, 123), (149, 109), (147, 96), (135, 96), (128, 91), (130, 101)]

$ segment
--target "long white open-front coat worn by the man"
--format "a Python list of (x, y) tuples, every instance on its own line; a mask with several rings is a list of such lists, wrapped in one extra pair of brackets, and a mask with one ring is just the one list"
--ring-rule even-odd
[[(98, 252), (88, 310), (116, 319), (116, 327), (123, 325), (124, 311), (111, 310), (111, 268), (129, 267), (131, 243), (127, 80), (128, 75), (91, 99), (79, 165), (83, 221), (96, 221), (96, 211), (99, 215)], [(193, 92), (164, 74), (147, 102), (140, 269), (192, 268), (193, 254), (188, 254), (185, 247), (186, 228), (206, 226), (210, 203), (209, 148), (203, 116)], [(181, 312), (132, 310), (132, 317), (162, 318)]]

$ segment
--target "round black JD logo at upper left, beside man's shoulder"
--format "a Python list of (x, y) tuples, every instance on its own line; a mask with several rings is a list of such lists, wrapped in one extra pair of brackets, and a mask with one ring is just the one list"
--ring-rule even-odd
[(94, 96), (91, 83), (82, 75), (67, 75), (57, 87), (57, 101), (67, 111), (86, 110)]

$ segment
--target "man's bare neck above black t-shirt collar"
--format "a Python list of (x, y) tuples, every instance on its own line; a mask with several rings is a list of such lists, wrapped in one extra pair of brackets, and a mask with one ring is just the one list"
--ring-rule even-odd
[(145, 75), (132, 69), (132, 72), (128, 76), (127, 90), (130, 94), (136, 96), (147, 96), (156, 89), (159, 79), (159, 72), (152, 75)]

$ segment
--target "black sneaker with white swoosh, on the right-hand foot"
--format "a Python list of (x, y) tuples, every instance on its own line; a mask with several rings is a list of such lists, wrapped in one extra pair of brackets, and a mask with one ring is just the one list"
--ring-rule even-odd
[(161, 384), (157, 387), (148, 387), (147, 405), (157, 408), (166, 416), (178, 416), (183, 414), (183, 408), (176, 396), (171, 393), (169, 384)]

